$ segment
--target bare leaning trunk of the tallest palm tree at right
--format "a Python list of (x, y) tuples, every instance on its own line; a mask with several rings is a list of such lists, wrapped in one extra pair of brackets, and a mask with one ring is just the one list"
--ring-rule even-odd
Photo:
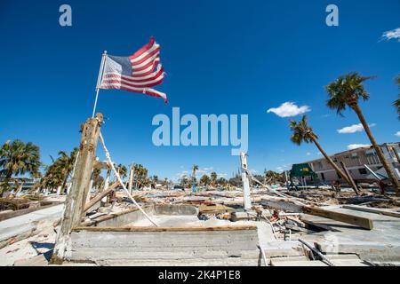
[(399, 195), (400, 193), (400, 182), (398, 181), (395, 172), (392, 170), (392, 167), (390, 167), (388, 161), (385, 158), (385, 155), (383, 154), (382, 149), (378, 144), (376, 143), (375, 138), (372, 136), (372, 132), (370, 127), (368, 126), (368, 123), (365, 121), (364, 115), (361, 111), (360, 106), (355, 105), (351, 106), (353, 110), (356, 112), (358, 119), (360, 120), (361, 124), (363, 124), (365, 133), (367, 134), (368, 138), (370, 138), (372, 146), (375, 148), (376, 154), (378, 154), (378, 157), (380, 158), (380, 162), (383, 165), (383, 168), (385, 168), (386, 172), (388, 173), (388, 178), (392, 182), (393, 186), (396, 189), (396, 194)]

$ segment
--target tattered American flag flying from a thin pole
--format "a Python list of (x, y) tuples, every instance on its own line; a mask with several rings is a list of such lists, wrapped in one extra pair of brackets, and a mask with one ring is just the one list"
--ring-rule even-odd
[(108, 55), (105, 59), (100, 89), (120, 89), (141, 92), (163, 98), (166, 94), (151, 89), (163, 83), (164, 67), (160, 63), (160, 44), (153, 37), (129, 57)]

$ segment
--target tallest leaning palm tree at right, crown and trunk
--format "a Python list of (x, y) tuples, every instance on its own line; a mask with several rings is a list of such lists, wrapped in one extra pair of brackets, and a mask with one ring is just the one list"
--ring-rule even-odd
[(328, 84), (326, 86), (326, 91), (329, 94), (329, 99), (326, 105), (332, 109), (336, 109), (337, 114), (343, 116), (342, 112), (346, 107), (353, 109), (361, 124), (364, 127), (365, 133), (371, 141), (376, 154), (380, 158), (380, 162), (388, 173), (388, 177), (396, 188), (396, 193), (400, 193), (400, 182), (395, 176), (394, 171), (389, 165), (388, 161), (383, 154), (382, 149), (378, 146), (375, 138), (372, 135), (371, 129), (368, 123), (365, 121), (364, 114), (361, 111), (361, 107), (358, 105), (358, 100), (368, 100), (370, 99), (369, 93), (364, 89), (363, 83), (372, 77), (364, 77), (356, 72), (350, 73), (348, 75), (340, 76), (336, 81)]

